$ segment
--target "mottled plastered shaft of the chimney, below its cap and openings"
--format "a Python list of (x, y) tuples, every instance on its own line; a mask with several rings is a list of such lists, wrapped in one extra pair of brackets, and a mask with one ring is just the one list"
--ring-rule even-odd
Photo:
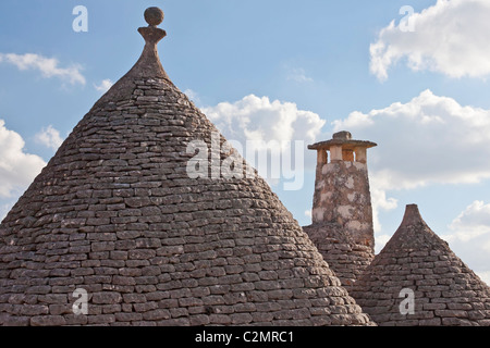
[(375, 248), (367, 164), (334, 161), (318, 165), (313, 222), (338, 223), (358, 245)]

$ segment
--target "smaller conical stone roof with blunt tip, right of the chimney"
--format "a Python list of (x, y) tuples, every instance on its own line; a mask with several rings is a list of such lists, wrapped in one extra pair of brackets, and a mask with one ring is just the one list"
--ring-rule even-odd
[(490, 326), (489, 287), (415, 204), (407, 206), (401, 226), (351, 295), (379, 325)]

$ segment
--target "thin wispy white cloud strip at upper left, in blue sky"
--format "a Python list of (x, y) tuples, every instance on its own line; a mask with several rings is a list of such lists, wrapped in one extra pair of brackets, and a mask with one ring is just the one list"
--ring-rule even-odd
[(60, 67), (57, 59), (46, 58), (39, 54), (0, 53), (0, 63), (13, 64), (21, 71), (37, 70), (44, 77), (59, 77), (72, 85), (85, 85), (86, 83), (85, 77), (81, 73), (79, 65)]

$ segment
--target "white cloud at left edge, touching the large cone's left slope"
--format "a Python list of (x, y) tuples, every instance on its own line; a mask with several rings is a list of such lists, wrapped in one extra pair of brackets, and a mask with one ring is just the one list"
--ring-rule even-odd
[(40, 157), (25, 153), (24, 146), (24, 139), (0, 120), (0, 198), (25, 189), (46, 165)]

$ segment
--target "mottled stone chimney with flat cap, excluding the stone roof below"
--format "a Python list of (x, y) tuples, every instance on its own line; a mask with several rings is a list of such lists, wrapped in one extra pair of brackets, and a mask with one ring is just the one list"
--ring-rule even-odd
[(317, 150), (313, 224), (338, 223), (353, 240), (375, 248), (372, 208), (367, 170), (370, 141), (353, 140), (348, 132), (308, 146)]

